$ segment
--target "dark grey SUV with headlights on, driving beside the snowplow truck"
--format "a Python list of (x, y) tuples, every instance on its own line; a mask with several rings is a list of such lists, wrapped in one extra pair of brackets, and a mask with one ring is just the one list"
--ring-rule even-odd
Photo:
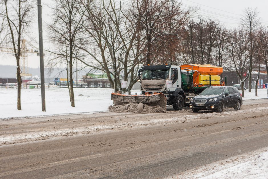
[(199, 110), (214, 110), (222, 112), (224, 107), (240, 110), (243, 104), (242, 95), (235, 87), (209, 87), (190, 100), (193, 112)]

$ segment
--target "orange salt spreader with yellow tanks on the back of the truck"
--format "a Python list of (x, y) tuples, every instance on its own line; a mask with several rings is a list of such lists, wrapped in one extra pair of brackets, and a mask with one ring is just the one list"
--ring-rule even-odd
[(208, 86), (224, 86), (224, 82), (220, 81), (220, 75), (223, 72), (222, 67), (213, 65), (197, 65), (184, 64), (180, 65), (182, 70), (193, 72), (193, 84), (195, 87)]

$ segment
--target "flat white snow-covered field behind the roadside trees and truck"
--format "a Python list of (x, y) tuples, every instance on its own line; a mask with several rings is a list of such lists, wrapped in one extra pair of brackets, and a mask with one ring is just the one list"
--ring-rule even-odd
[[(41, 110), (40, 89), (22, 89), (21, 107), (17, 110), (17, 90), (0, 89), (0, 118), (30, 117), (56, 114), (71, 114), (82, 112), (107, 111), (112, 104), (110, 100), (113, 89), (103, 88), (78, 88), (74, 89), (75, 108), (71, 107), (67, 88), (46, 89), (46, 112)], [(132, 91), (135, 94), (139, 91)], [(267, 89), (245, 91), (244, 100), (267, 98)]]

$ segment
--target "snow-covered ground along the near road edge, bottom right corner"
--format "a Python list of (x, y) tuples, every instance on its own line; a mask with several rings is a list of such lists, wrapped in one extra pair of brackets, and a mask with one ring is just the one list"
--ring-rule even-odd
[(207, 164), (169, 178), (268, 178), (268, 148)]

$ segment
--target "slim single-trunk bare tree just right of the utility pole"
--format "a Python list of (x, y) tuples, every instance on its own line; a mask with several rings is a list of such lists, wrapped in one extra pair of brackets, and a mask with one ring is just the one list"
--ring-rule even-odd
[[(80, 31), (82, 29), (84, 11), (81, 11), (78, 0), (60, 0), (55, 4), (53, 21), (49, 25), (51, 31), (50, 38), (57, 47), (59, 59), (64, 57), (67, 61), (67, 71), (69, 71), (68, 81), (70, 82), (71, 106), (74, 104), (73, 89), (73, 65), (74, 59), (78, 56), (79, 49), (76, 43), (80, 40)], [(67, 82), (67, 83), (69, 83)]]

